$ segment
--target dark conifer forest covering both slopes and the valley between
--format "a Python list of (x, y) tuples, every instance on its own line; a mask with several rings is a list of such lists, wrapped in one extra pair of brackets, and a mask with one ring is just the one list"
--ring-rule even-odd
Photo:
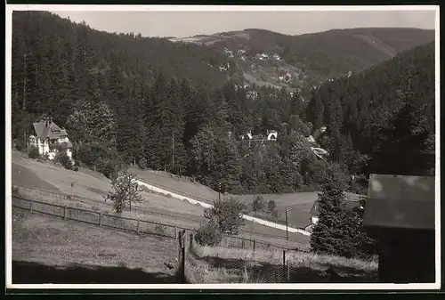
[[(369, 173), (432, 174), (433, 43), (326, 82), (308, 101), (240, 87), (211, 67), (227, 62), (205, 46), (13, 12), (12, 138), (49, 116), (67, 129), (75, 159), (108, 176), (135, 163), (231, 193), (314, 190), (332, 164), (357, 192)], [(306, 140), (321, 126), (322, 159)], [(241, 141), (249, 130), (278, 139)]]

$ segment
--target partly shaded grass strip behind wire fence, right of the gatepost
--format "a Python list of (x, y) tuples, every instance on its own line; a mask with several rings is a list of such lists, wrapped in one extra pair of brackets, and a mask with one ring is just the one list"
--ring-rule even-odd
[[(331, 255), (287, 252), (283, 276), (282, 251), (249, 251), (194, 244), (188, 264), (190, 280), (216, 282), (376, 282), (376, 259), (345, 259)], [(329, 273), (332, 267), (336, 275)], [(286, 276), (287, 273), (287, 276)], [(279, 276), (282, 276), (279, 278)]]

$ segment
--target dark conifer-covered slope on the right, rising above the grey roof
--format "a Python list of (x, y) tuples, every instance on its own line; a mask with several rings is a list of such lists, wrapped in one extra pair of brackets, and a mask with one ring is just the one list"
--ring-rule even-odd
[(353, 174), (431, 174), (434, 72), (434, 43), (418, 46), (321, 85), (312, 91), (307, 119), (328, 126), (320, 143)]

